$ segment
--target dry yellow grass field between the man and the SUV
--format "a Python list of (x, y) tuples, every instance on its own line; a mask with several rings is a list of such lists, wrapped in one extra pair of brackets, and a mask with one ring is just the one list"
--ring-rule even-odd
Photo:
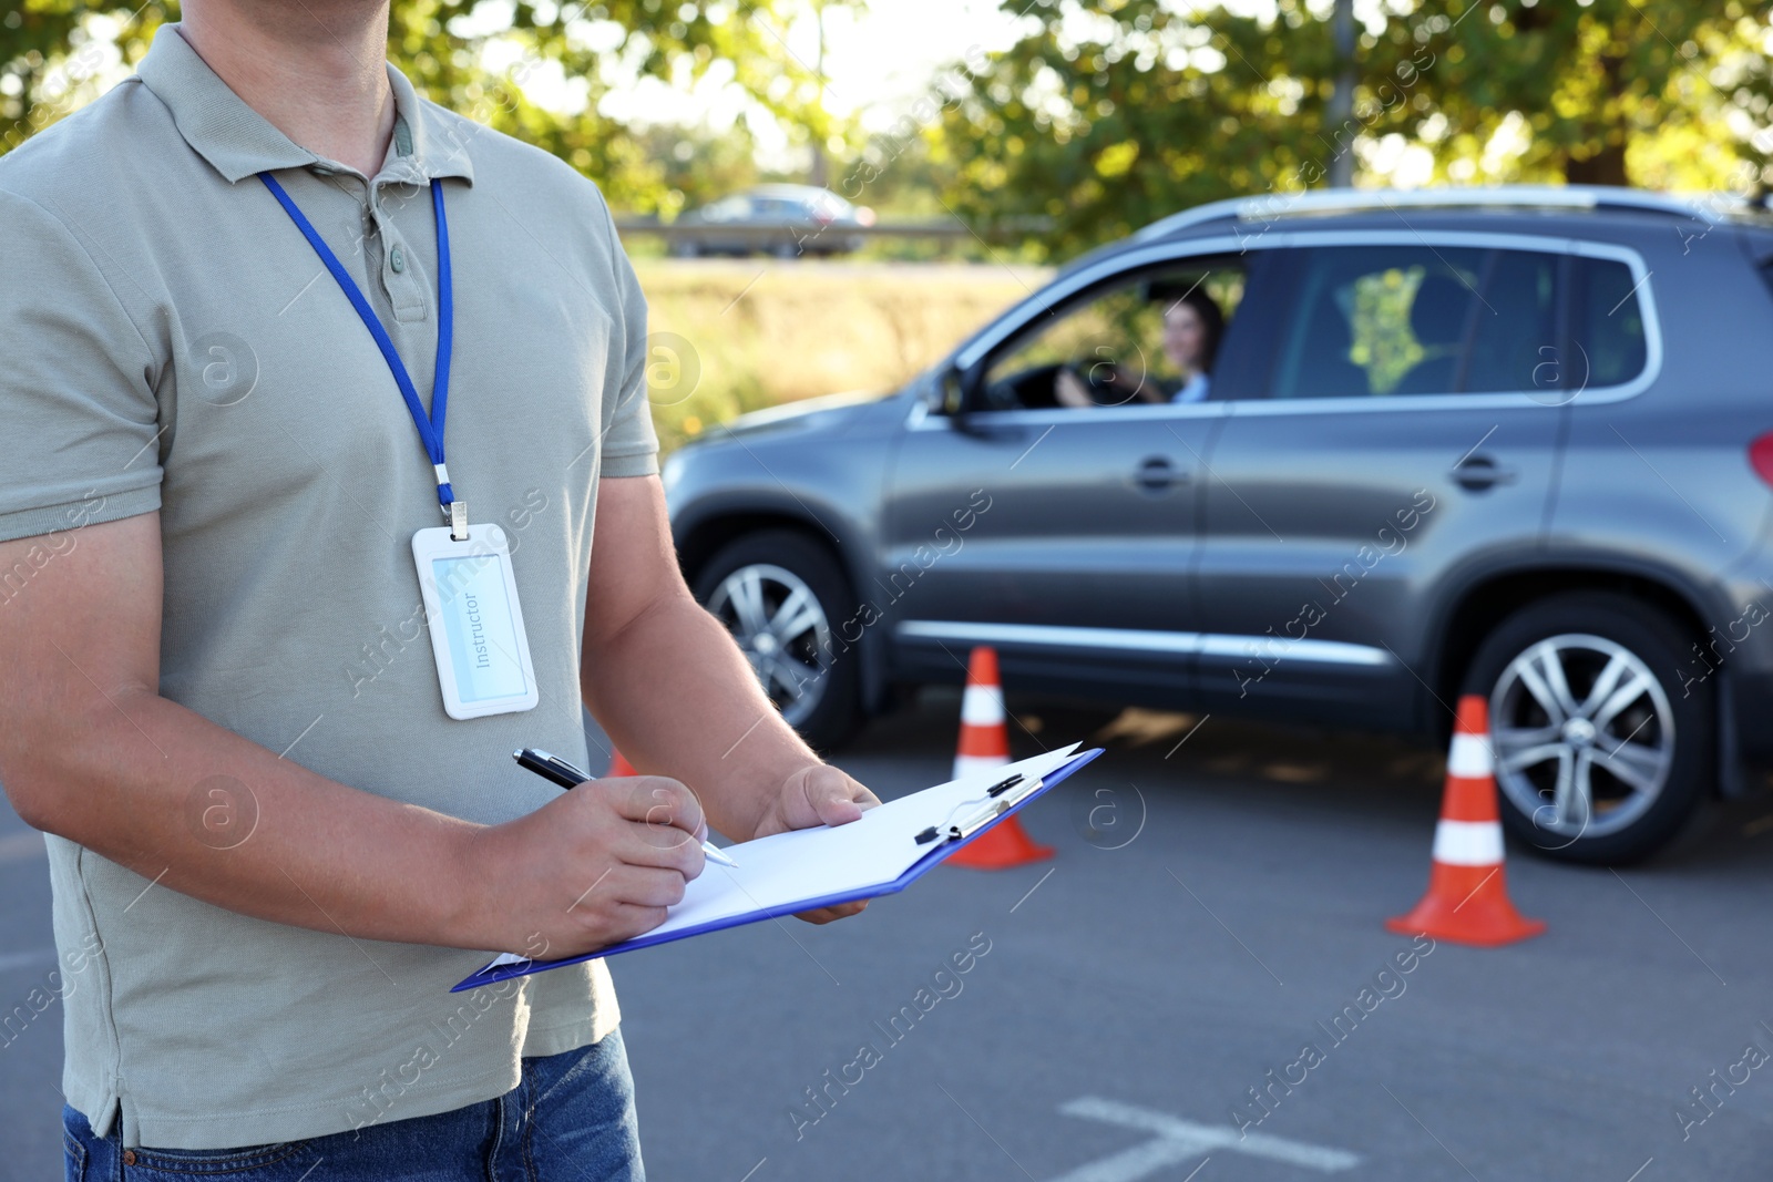
[(1041, 268), (637, 259), (667, 452), (745, 411), (892, 390), (1048, 278)]

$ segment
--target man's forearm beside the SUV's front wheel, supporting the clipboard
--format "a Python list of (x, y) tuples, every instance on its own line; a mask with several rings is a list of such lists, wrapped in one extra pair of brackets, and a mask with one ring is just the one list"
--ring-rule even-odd
[(782, 782), (817, 764), (720, 622), (665, 595), (612, 636), (587, 638), (585, 705), (644, 773), (690, 785), (707, 822), (748, 840)]

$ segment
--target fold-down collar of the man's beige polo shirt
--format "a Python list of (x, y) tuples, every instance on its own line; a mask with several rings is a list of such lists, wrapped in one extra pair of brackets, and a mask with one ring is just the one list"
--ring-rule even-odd
[[(332, 161), (293, 142), (246, 106), (197, 55), (177, 25), (160, 27), (137, 74), (172, 112), (172, 122), (191, 151), (230, 184), (278, 168), (332, 167)], [(461, 177), (472, 184), (473, 165), (463, 138), (452, 133), (436, 108), (418, 99), (413, 83), (394, 66), (388, 66), (388, 85), (394, 89), (395, 122), (381, 175), (410, 183)]]

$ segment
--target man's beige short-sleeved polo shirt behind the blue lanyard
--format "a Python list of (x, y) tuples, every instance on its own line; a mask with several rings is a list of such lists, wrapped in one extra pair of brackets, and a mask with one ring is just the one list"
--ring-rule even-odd
[[(177, 27), (138, 78), (0, 158), (0, 539), (39, 539), (0, 571), (0, 627), (82, 526), (158, 509), (167, 698), (342, 783), (496, 824), (557, 794), (514, 748), (585, 762), (598, 480), (656, 471), (645, 305), (590, 183), (388, 76), (399, 122), (372, 181), (289, 142)], [(535, 711), (443, 712), (410, 548), (441, 525), (431, 463), (261, 170), (349, 268), (426, 402), (443, 177), (449, 468), (472, 517), (511, 535)], [(452, 996), (486, 955), (252, 920), (60, 838), (50, 874), (67, 1100), (101, 1134), (121, 1116), (126, 1145), (449, 1111), (617, 1023), (601, 962)]]

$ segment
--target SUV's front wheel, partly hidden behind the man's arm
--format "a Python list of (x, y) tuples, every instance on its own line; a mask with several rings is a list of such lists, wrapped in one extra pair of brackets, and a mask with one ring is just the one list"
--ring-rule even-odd
[(828, 750), (855, 732), (856, 654), (833, 638), (855, 613), (855, 595), (830, 551), (791, 530), (750, 533), (702, 567), (695, 597), (727, 626), (807, 743)]

